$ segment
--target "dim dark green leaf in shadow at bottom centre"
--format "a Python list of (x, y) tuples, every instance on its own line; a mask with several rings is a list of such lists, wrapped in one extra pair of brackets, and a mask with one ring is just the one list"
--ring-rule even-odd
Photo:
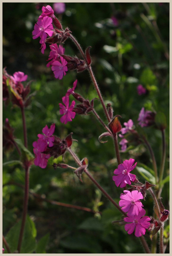
[(90, 217), (90, 218), (86, 219), (84, 222), (82, 222), (78, 226), (78, 229), (102, 231), (103, 230), (103, 225), (98, 219), (96, 219), (94, 217)]

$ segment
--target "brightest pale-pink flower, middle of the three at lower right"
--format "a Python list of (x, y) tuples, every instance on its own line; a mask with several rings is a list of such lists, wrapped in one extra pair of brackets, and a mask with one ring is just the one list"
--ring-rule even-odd
[(142, 210), (142, 203), (139, 199), (143, 199), (143, 195), (138, 190), (124, 190), (120, 195), (119, 206), (124, 212), (128, 211), (129, 215), (138, 215), (139, 211)]

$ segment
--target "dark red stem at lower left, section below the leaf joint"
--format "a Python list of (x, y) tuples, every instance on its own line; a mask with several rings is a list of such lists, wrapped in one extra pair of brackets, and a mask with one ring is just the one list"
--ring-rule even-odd
[(18, 239), (18, 246), (17, 246), (18, 253), (20, 253), (21, 243), (22, 243), (22, 238), (23, 238), (23, 233), (24, 233), (24, 228), (25, 228), (27, 207), (28, 207), (28, 198), (29, 198), (29, 167), (26, 167), (26, 169), (25, 169), (25, 196), (24, 196), (24, 205), (23, 205), (23, 216), (22, 216), (20, 234), (19, 234), (19, 239)]

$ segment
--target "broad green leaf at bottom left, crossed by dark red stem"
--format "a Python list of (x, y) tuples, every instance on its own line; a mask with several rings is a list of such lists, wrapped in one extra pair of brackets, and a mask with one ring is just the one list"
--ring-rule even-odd
[[(17, 250), (20, 227), (21, 227), (21, 220), (19, 220), (8, 231), (5, 238), (12, 252)], [(36, 237), (35, 223), (27, 215), (20, 253), (32, 253), (36, 249), (35, 237)]]

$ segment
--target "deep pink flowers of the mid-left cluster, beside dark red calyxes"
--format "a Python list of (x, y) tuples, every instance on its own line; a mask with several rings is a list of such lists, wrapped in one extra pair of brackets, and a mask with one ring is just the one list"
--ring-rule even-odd
[(41, 168), (45, 168), (47, 166), (48, 158), (50, 158), (50, 154), (43, 153), (47, 150), (47, 147), (52, 147), (54, 142), (54, 136), (52, 135), (55, 130), (55, 124), (50, 126), (45, 125), (42, 129), (44, 134), (38, 134), (38, 141), (34, 141), (32, 146), (33, 152), (35, 154), (34, 164), (40, 166)]

